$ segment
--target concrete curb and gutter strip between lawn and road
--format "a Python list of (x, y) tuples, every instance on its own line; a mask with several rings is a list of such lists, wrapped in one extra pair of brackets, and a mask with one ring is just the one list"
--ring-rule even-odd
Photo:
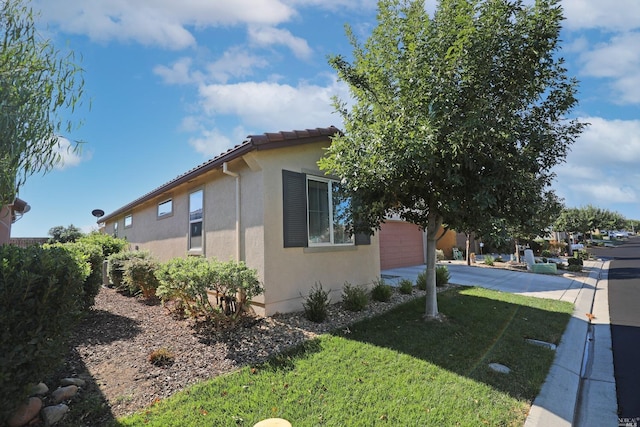
[[(596, 268), (578, 294), (525, 427), (617, 425), (607, 283), (601, 279), (608, 263), (589, 264)], [(587, 314), (595, 316), (592, 322)]]

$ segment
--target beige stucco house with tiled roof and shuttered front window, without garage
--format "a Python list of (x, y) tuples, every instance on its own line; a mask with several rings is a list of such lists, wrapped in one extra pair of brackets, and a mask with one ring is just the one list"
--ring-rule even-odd
[(378, 238), (344, 232), (348, 201), (317, 161), (335, 127), (252, 135), (244, 142), (98, 219), (105, 233), (160, 261), (189, 255), (242, 260), (265, 293), (258, 314), (302, 309), (321, 283), (340, 299), (345, 282), (380, 275)]

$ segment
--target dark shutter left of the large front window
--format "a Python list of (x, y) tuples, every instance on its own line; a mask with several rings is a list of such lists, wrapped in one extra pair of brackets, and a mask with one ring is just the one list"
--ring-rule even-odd
[(284, 247), (308, 246), (307, 237), (307, 176), (282, 171), (282, 219)]

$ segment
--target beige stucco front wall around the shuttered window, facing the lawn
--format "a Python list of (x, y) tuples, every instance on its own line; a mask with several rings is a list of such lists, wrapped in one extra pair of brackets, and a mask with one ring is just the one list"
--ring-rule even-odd
[(326, 144), (306, 144), (288, 149), (286, 153), (275, 150), (260, 154), (264, 170), (265, 254), (264, 280), (269, 286), (265, 292), (266, 314), (302, 309), (302, 295), (319, 282), (323, 289), (332, 290), (332, 301), (341, 299), (345, 282), (353, 285), (370, 285), (380, 275), (380, 253), (377, 236), (370, 245), (348, 247), (285, 248), (283, 242), (283, 194), (282, 170), (313, 171)]

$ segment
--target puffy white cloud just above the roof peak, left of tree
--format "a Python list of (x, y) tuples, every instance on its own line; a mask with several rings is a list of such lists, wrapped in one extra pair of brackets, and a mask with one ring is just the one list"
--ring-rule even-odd
[(210, 116), (236, 115), (252, 128), (269, 131), (336, 125), (331, 97), (344, 94), (342, 84), (329, 86), (299, 83), (245, 82), (200, 87), (203, 111)]

